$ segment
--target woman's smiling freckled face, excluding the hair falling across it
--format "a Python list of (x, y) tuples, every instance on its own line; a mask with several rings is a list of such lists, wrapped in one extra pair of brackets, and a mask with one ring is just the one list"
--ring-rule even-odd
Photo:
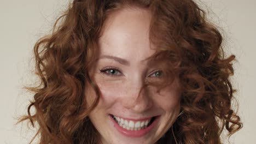
[[(161, 89), (144, 87), (145, 82), (164, 81), (165, 71), (149, 62), (148, 10), (123, 9), (110, 15), (99, 40), (100, 57), (91, 76), (100, 88), (100, 101), (89, 118), (102, 143), (155, 143), (180, 111), (178, 79)], [(141, 90), (141, 92), (140, 92)], [(86, 99), (95, 99), (91, 87)]]

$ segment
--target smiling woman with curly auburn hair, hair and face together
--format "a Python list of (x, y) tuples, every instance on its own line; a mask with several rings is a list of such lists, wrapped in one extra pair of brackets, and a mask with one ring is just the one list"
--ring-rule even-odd
[(221, 43), (191, 0), (73, 1), (34, 47), (22, 120), (42, 144), (221, 143), (242, 127)]

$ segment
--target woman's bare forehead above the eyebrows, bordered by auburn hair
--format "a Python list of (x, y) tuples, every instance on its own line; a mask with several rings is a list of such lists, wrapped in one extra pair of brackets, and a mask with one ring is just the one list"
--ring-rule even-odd
[(142, 61), (153, 55), (150, 46), (150, 11), (122, 9), (110, 14), (99, 39), (100, 55), (117, 56), (129, 61)]

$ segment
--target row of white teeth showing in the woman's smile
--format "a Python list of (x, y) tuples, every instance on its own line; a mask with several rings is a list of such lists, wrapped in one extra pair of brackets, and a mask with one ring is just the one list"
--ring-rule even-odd
[(150, 122), (150, 119), (147, 121), (131, 121), (123, 118), (119, 118), (117, 116), (113, 116), (115, 121), (120, 125), (120, 127), (123, 127), (127, 130), (141, 130), (148, 127), (148, 123)]

